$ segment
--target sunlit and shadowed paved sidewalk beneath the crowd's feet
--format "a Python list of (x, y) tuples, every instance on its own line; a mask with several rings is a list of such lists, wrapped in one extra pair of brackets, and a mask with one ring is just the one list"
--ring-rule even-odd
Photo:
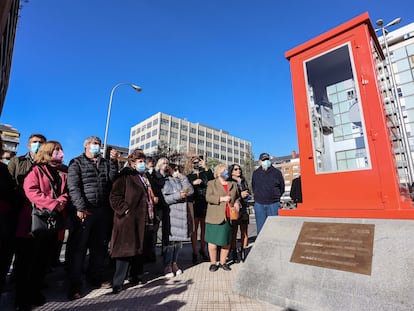
[[(252, 227), (251, 235), (255, 233), (252, 225), (255, 226), (254, 219), (249, 226), (249, 230)], [(254, 237), (249, 248), (253, 245)], [(243, 263), (231, 264), (230, 272), (222, 269), (210, 272), (209, 262), (193, 265), (191, 254), (191, 244), (186, 243), (179, 257), (180, 267), (184, 270), (180, 276), (164, 278), (162, 258), (158, 253), (157, 262), (144, 267), (146, 284), (129, 288), (125, 284), (125, 289), (117, 295), (113, 295), (111, 289), (84, 288), (85, 296), (76, 301), (67, 300), (65, 271), (59, 267), (47, 276), (49, 286), (43, 290), (47, 303), (33, 310), (282, 310), (233, 293), (233, 283)], [(14, 310), (13, 300), (13, 291), (3, 293), (0, 310)]]

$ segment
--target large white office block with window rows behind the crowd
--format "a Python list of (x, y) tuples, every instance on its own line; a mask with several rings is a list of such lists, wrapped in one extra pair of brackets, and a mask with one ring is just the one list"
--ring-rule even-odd
[(192, 123), (162, 112), (145, 119), (131, 128), (129, 150), (141, 148), (146, 154), (155, 154), (158, 146), (167, 146), (170, 152), (203, 155), (226, 165), (242, 165), (251, 154), (251, 143), (230, 135), (222, 129)]

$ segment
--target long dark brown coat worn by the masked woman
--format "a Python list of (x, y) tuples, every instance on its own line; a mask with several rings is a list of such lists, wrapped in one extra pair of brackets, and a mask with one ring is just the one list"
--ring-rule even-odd
[(148, 197), (136, 170), (124, 170), (115, 180), (109, 201), (114, 210), (111, 256), (121, 258), (142, 254)]

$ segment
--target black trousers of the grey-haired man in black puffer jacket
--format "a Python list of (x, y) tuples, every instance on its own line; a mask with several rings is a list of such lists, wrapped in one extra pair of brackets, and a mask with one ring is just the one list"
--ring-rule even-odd
[(109, 208), (89, 210), (84, 222), (76, 214), (71, 215), (69, 225), (68, 260), (69, 281), (71, 291), (80, 290), (82, 272), (87, 250), (89, 249), (89, 264), (87, 278), (94, 285), (103, 281), (105, 258), (108, 257), (108, 230), (110, 222)]

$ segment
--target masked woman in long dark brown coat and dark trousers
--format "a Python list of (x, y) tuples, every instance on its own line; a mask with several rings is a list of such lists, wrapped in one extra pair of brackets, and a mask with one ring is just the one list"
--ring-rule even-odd
[(154, 217), (151, 186), (145, 176), (145, 154), (129, 155), (128, 164), (114, 181), (109, 197), (114, 210), (111, 239), (111, 257), (116, 262), (114, 294), (122, 290), (129, 269), (130, 282), (142, 282), (139, 276), (143, 273), (145, 224)]

